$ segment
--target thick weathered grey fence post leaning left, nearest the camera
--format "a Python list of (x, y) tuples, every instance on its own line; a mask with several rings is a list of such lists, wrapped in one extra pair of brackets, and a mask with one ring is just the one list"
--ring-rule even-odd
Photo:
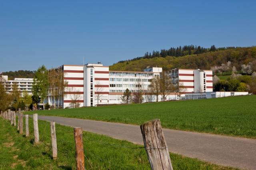
[(173, 170), (160, 119), (140, 125), (140, 130), (151, 170)]

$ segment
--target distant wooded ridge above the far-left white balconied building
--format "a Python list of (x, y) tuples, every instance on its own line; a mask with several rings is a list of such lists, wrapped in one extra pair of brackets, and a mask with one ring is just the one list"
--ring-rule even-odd
[(19, 70), (19, 71), (6, 71), (3, 75), (8, 75), (9, 80), (14, 78), (34, 78), (36, 71)]

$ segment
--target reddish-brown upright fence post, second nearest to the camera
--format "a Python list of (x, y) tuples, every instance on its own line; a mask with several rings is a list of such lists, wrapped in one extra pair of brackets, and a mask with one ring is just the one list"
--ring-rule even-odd
[(76, 144), (76, 169), (84, 169), (84, 145), (83, 145), (83, 130), (81, 127), (74, 128), (74, 138)]

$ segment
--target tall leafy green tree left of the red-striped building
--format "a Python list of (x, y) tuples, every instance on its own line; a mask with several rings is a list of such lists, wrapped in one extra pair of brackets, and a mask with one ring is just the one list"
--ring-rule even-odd
[(32, 93), (35, 98), (39, 98), (43, 102), (44, 105), (44, 99), (47, 97), (47, 91), (48, 91), (48, 70), (44, 65), (40, 66), (36, 73), (35, 77), (33, 78), (33, 87), (32, 87)]

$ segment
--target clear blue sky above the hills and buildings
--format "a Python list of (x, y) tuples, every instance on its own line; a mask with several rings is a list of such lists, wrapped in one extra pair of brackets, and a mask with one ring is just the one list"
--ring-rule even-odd
[(256, 1), (0, 1), (0, 72), (112, 65), (183, 45), (256, 45)]

